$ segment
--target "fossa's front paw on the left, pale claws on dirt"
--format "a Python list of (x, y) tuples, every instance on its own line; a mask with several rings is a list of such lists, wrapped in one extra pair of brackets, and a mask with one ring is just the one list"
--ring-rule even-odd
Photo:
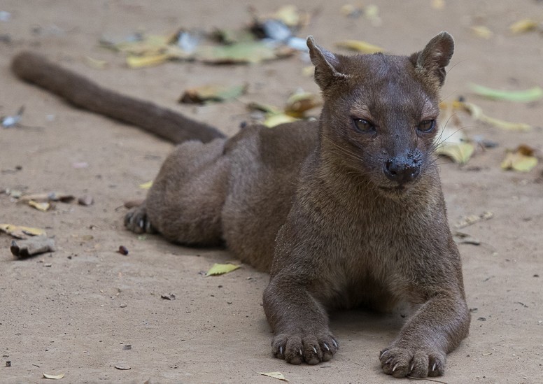
[(274, 356), (290, 364), (306, 362), (314, 365), (327, 362), (338, 348), (337, 341), (331, 334), (278, 334), (272, 341)]

